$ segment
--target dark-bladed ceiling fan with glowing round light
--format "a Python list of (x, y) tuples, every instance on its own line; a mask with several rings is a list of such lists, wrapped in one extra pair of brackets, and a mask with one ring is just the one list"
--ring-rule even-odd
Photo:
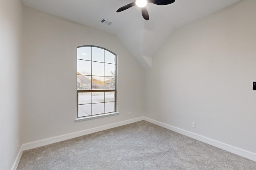
[(134, 0), (134, 2), (127, 4), (125, 6), (122, 6), (116, 12), (121, 12), (137, 5), (138, 7), (141, 8), (141, 13), (143, 18), (145, 20), (149, 20), (148, 10), (145, 7), (148, 3), (152, 3), (156, 5), (168, 5), (168, 4), (172, 4), (173, 2), (175, 2), (175, 0)]

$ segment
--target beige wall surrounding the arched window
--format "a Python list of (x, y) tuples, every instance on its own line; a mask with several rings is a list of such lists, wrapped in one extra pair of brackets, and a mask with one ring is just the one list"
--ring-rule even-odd
[[(119, 115), (74, 123), (80, 45), (97, 45), (118, 55)], [(22, 143), (143, 115), (144, 72), (115, 35), (24, 7), (23, 66)]]

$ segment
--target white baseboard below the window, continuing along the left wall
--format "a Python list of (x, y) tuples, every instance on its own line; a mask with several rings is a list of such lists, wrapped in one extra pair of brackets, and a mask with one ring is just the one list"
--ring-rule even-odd
[(83, 130), (83, 131), (78, 131), (78, 132), (74, 132), (74, 133), (69, 133), (69, 134), (65, 134), (65, 135), (60, 135), (60, 136), (56, 136), (56, 137), (42, 139), (40, 141), (25, 143), (21, 146), (20, 151), (18, 152), (18, 155), (16, 156), (16, 159), (14, 161), (14, 164), (13, 164), (11, 170), (16, 170), (16, 168), (18, 167), (21, 155), (22, 155), (24, 150), (34, 149), (34, 148), (37, 148), (37, 147), (42, 147), (42, 146), (49, 145), (49, 144), (52, 144), (52, 143), (65, 141), (65, 140), (72, 139), (72, 138), (75, 138), (75, 137), (80, 137), (80, 136), (88, 135), (88, 134), (91, 134), (91, 133), (104, 131), (106, 129), (111, 129), (111, 128), (122, 126), (122, 125), (127, 125), (127, 124), (134, 123), (134, 122), (137, 122), (137, 121), (142, 121), (143, 119), (144, 119), (144, 117), (138, 117), (138, 118), (135, 118), (135, 119), (120, 121), (120, 122), (117, 122), (117, 123), (112, 123), (112, 124), (109, 124), (109, 125), (95, 127), (95, 128), (92, 128), (92, 129), (86, 129), (86, 130)]

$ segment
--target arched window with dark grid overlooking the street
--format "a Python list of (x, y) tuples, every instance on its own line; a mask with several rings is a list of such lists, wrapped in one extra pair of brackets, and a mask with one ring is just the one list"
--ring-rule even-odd
[(116, 112), (116, 54), (102, 47), (77, 47), (77, 117)]

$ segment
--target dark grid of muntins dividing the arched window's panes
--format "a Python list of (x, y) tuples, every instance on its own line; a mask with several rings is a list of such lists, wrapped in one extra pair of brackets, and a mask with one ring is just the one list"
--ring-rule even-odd
[[(101, 49), (104, 49), (104, 76), (101, 76), (101, 77), (104, 77), (104, 84), (103, 84), (103, 90), (92, 90), (92, 79), (90, 81), (91, 83), (91, 90), (80, 90), (80, 89), (77, 89), (77, 117), (78, 116), (78, 106), (79, 105), (88, 105), (88, 104), (78, 104), (78, 96), (79, 96), (79, 93), (93, 93), (93, 92), (104, 92), (104, 113), (100, 113), (100, 114), (105, 114), (105, 103), (110, 103), (110, 102), (105, 102), (105, 92), (114, 92), (114, 112), (116, 111), (116, 68), (117, 68), (117, 55), (114, 54), (112, 51), (109, 51), (108, 49), (105, 49), (105, 48), (102, 48), (102, 47), (98, 47), (98, 46), (93, 46), (93, 45), (84, 45), (84, 46), (79, 46), (77, 48), (80, 48), (80, 47), (91, 47), (91, 60), (84, 60), (84, 59), (77, 59), (77, 60), (84, 60), (84, 61), (90, 61), (91, 62), (91, 75), (86, 75), (86, 74), (77, 74), (78, 75), (82, 75), (82, 76), (94, 76), (92, 75), (92, 62), (98, 62), (98, 63), (103, 63), (103, 62), (100, 62), (100, 61), (92, 61), (92, 47), (97, 47), (97, 48), (101, 48)], [(105, 52), (108, 51), (110, 52), (111, 54), (114, 55), (114, 61), (115, 61), (115, 73), (114, 73), (114, 76), (105, 76)], [(106, 63), (106, 64), (113, 64), (113, 63)], [(99, 76), (100, 77), (100, 76)], [(106, 77), (114, 77), (115, 78), (115, 82), (114, 82), (114, 90), (105, 90), (105, 78)], [(102, 102), (103, 103), (103, 102)], [(91, 115), (92, 114), (92, 95), (91, 95)], [(107, 112), (107, 113), (112, 113), (112, 112)], [(100, 115), (100, 114), (94, 114), (94, 115)], [(86, 116), (80, 116), (80, 117), (86, 117)]]

